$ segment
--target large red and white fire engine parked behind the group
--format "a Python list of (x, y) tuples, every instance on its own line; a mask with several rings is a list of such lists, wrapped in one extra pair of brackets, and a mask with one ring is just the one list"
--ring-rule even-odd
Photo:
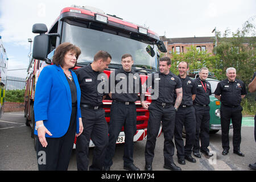
[[(130, 53), (134, 59), (133, 69), (141, 75), (142, 84), (149, 74), (158, 71), (159, 52), (167, 52), (159, 36), (148, 28), (127, 22), (116, 15), (105, 14), (102, 10), (88, 6), (65, 7), (51, 28), (42, 23), (34, 24), (32, 32), (40, 34), (34, 38), (32, 57), (28, 66), (27, 86), (25, 93), (26, 124), (31, 125), (31, 136), (34, 136), (34, 94), (36, 81), (42, 69), (51, 64), (55, 48), (64, 42), (70, 42), (80, 47), (81, 55), (77, 60), (77, 68), (92, 63), (95, 53), (99, 50), (108, 51), (112, 55), (109, 69), (104, 73), (110, 75), (110, 69), (121, 68), (121, 56)], [(146, 93), (147, 104), (151, 96)], [(106, 121), (110, 121), (110, 106), (112, 101), (103, 101)], [(137, 107), (137, 133), (134, 141), (146, 140), (149, 112), (143, 109), (141, 102), (135, 102)], [(162, 127), (159, 130), (161, 133)], [(124, 143), (123, 130), (117, 143)], [(94, 146), (90, 142), (90, 147)]]

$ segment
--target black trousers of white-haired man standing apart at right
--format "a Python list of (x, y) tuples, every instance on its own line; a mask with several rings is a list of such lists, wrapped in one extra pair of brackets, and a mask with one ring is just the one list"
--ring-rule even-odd
[(228, 107), (221, 105), (221, 140), (222, 148), (229, 150), (229, 125), (230, 119), (233, 124), (233, 150), (240, 150), (242, 106)]

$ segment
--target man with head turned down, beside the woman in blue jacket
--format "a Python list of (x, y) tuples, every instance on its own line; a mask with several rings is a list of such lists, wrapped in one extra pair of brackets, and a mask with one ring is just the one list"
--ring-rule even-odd
[[(108, 146), (108, 125), (105, 110), (102, 108), (104, 93), (99, 92), (98, 84), (108, 80), (104, 69), (108, 68), (112, 57), (106, 51), (98, 51), (93, 63), (77, 69), (76, 75), (81, 89), (81, 115), (83, 133), (76, 140), (77, 170), (88, 170), (89, 142), (95, 145), (93, 162), (89, 170), (102, 170), (105, 151)], [(108, 92), (108, 91), (107, 91)]]

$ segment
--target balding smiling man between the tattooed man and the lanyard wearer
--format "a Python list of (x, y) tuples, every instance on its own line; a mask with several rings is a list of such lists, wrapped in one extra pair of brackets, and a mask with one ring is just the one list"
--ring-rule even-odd
[[(182, 83), (183, 96), (179, 109), (175, 118), (175, 146), (177, 148), (177, 157), (179, 164), (185, 164), (185, 160), (196, 163), (196, 159), (192, 158), (192, 148), (196, 137), (196, 115), (193, 107), (193, 100), (196, 97), (196, 86), (193, 80), (187, 76), (188, 63), (181, 61), (179, 63), (179, 78)], [(182, 139), (183, 126), (186, 131), (186, 143)]]

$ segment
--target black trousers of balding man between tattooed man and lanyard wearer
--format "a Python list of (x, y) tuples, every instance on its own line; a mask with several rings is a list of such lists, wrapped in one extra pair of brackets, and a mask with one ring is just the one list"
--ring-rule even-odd
[[(185, 127), (186, 131), (185, 146), (182, 138), (183, 126)], [(192, 148), (196, 138), (196, 115), (195, 108), (193, 106), (181, 106), (177, 110), (174, 136), (175, 146), (177, 148), (177, 157), (184, 159), (185, 156), (191, 156)]]

